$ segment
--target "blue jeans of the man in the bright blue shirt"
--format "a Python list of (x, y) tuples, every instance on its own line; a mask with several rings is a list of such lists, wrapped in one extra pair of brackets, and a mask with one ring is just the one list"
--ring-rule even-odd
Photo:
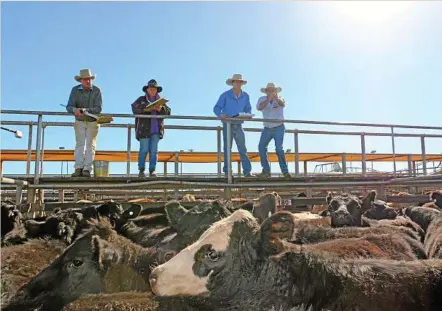
[[(244, 176), (250, 174), (252, 171), (252, 164), (247, 157), (246, 138), (241, 124), (232, 124), (231, 126), (230, 146), (232, 146), (233, 139), (235, 139), (236, 147), (238, 148), (241, 165)], [(224, 143), (224, 173), (227, 173), (227, 125), (223, 123), (223, 143)]]

